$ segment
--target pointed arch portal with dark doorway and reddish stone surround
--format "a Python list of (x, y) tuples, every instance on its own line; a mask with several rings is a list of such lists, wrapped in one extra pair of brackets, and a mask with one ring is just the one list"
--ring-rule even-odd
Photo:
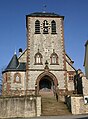
[(58, 85), (58, 81), (55, 75), (51, 72), (43, 72), (38, 76), (36, 84), (37, 93), (39, 93), (40, 90), (53, 90), (53, 87)]

